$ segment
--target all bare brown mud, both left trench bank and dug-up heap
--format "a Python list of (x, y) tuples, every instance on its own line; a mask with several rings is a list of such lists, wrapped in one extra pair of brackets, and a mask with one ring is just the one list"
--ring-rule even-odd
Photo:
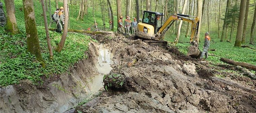
[[(88, 34), (87, 34), (88, 35)], [(89, 34), (90, 35), (90, 34)], [(111, 87), (92, 95), (88, 103), (76, 106), (78, 113), (255, 113), (256, 80), (220, 70), (235, 70), (234, 66), (211, 67), (180, 53), (175, 47), (151, 47), (141, 40), (131, 40), (115, 34), (90, 35), (99, 43), (90, 44), (88, 59), (79, 61), (70, 73), (44, 78), (39, 86), (29, 81), (14, 85), (13, 94), (2, 93), (1, 112), (64, 112), (75, 107), (72, 96), (53, 83), (60, 83), (67, 91), (79, 92), (73, 86), (90, 85), (97, 74), (97, 46), (103, 44), (113, 54), (114, 64), (109, 74), (125, 76), (122, 88)], [(133, 58), (138, 61), (129, 67)], [(208, 67), (195, 65), (194, 62)], [(238, 70), (237, 70), (238, 71)], [(217, 77), (222, 76), (222, 77)], [(77, 83), (79, 81), (79, 83)], [(85, 97), (86, 97), (85, 92)], [(62, 96), (57, 96), (62, 95)], [(95, 98), (94, 98), (95, 97)], [(63, 99), (65, 102), (62, 102)], [(12, 102), (8, 102), (11, 99)], [(4, 100), (4, 101), (3, 101)], [(17, 101), (14, 102), (13, 100)], [(69, 101), (67, 101), (69, 100)], [(62, 102), (62, 103), (61, 103)], [(19, 103), (19, 104), (18, 104)], [(65, 106), (65, 107), (63, 107)], [(11, 109), (11, 110), (7, 110)]]

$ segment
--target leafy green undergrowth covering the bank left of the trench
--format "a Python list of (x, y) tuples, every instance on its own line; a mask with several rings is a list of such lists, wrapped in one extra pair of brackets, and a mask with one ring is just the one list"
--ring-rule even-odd
[[(46, 68), (42, 68), (35, 56), (27, 52), (27, 41), (24, 33), (14, 36), (1, 31), (1, 87), (17, 84), (22, 79), (29, 79), (36, 83), (41, 76), (55, 76), (68, 71), (78, 60), (87, 58), (88, 44), (91, 37), (82, 34), (69, 33), (61, 52), (55, 52), (61, 40), (61, 34), (50, 31), (51, 44), (54, 60), (49, 60), (49, 50), (46, 43), (45, 32), (38, 29), (38, 37), (41, 47), (42, 58), (45, 60)], [(93, 40), (95, 41), (95, 40)]]

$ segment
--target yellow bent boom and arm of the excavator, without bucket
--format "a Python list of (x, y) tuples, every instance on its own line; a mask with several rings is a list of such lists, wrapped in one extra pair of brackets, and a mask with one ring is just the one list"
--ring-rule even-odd
[[(195, 17), (195, 19), (188, 17)], [(198, 34), (198, 25), (200, 19), (196, 16), (189, 16), (184, 14), (171, 14), (170, 17), (164, 22), (164, 24), (161, 27), (159, 27), (158, 32), (156, 33), (157, 37), (161, 39), (175, 20), (183, 20), (192, 23), (190, 34), (190, 42), (192, 42), (193, 39), (196, 38)]]

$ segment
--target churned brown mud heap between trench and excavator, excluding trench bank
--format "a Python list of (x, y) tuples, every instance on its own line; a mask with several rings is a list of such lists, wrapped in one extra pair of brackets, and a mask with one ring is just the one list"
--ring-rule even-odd
[[(77, 106), (75, 112), (256, 112), (256, 80), (221, 71), (236, 70), (235, 66), (213, 67), (207, 61), (181, 55), (175, 47), (151, 47), (121, 35), (92, 37), (114, 54), (116, 63), (111, 65), (110, 73), (124, 75), (125, 83), (123, 88), (108, 88), (89, 103)], [(128, 62), (134, 58), (138, 61), (129, 67)]]

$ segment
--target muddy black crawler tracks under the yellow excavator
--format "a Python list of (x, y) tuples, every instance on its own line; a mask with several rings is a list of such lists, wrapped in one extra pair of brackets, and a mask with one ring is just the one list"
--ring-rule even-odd
[(142, 42), (145, 42), (145, 43), (149, 44), (150, 46), (167, 46), (167, 41), (165, 41), (165, 40), (145, 40), (145, 39), (137, 37), (137, 36), (129, 36), (128, 38), (131, 40), (140, 39), (140, 40), (142, 40)]

